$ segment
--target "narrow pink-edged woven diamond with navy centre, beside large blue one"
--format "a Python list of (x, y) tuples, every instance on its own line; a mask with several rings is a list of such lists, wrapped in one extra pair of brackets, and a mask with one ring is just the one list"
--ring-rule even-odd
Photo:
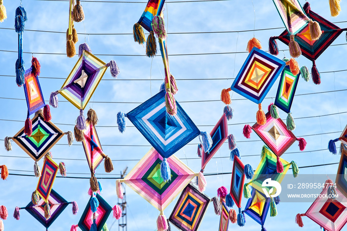
[(213, 141), (212, 147), (208, 152), (205, 152), (203, 150), (201, 156), (201, 169), (205, 169), (207, 163), (211, 160), (218, 149), (222, 146), (224, 141), (228, 138), (228, 120), (225, 114), (223, 114), (221, 119), (217, 122), (216, 126), (211, 131), (210, 136)]

